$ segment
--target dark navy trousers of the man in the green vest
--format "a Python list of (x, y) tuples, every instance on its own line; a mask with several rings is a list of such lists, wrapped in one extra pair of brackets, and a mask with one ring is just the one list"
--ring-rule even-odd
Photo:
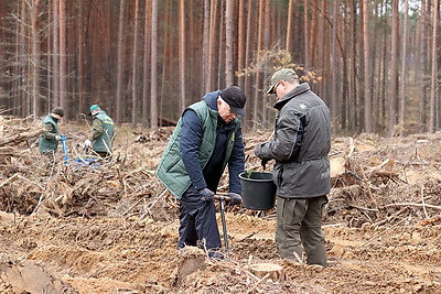
[(180, 229), (178, 248), (198, 246), (212, 257), (222, 248), (214, 202), (204, 202), (190, 187), (180, 199)]

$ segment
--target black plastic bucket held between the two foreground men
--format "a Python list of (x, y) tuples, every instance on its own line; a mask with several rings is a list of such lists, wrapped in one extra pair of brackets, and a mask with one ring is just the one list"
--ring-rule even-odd
[(267, 210), (275, 207), (276, 185), (272, 182), (271, 173), (244, 172), (239, 174), (239, 178), (245, 208)]

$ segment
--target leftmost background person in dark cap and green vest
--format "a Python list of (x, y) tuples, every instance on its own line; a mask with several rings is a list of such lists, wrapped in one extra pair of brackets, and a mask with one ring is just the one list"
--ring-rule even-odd
[(41, 154), (53, 156), (62, 140), (58, 132), (58, 121), (63, 118), (64, 111), (55, 107), (42, 121), (44, 132), (39, 138), (39, 151)]

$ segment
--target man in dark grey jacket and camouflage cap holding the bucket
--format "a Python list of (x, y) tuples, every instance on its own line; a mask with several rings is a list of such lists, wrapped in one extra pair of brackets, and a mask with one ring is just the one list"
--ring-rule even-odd
[[(262, 164), (276, 160), (276, 243), (283, 259), (327, 265), (322, 209), (331, 189), (330, 110), (294, 70), (283, 68), (271, 77), (268, 94), (276, 94), (279, 110), (275, 135), (255, 153)], [(303, 248), (302, 248), (303, 246)]]

